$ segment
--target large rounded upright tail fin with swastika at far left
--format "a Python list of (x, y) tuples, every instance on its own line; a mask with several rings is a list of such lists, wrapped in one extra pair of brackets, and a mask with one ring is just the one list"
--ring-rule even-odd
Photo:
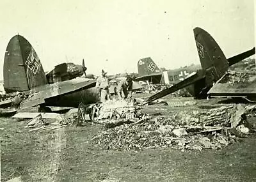
[(23, 36), (13, 36), (4, 55), (4, 91), (28, 91), (44, 84), (45, 72), (35, 50)]

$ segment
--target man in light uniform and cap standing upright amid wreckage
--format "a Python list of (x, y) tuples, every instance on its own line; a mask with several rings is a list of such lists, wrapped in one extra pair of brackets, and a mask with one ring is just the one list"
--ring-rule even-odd
[(101, 102), (109, 100), (109, 80), (104, 70), (101, 71), (101, 76), (96, 81), (96, 88), (99, 90)]

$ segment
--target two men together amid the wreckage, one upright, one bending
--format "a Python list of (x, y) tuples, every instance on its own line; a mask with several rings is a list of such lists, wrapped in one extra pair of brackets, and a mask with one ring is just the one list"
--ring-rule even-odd
[[(96, 81), (96, 88), (99, 91), (101, 102), (106, 102), (110, 100), (109, 96), (109, 79), (107, 72), (102, 70), (100, 77)], [(125, 80), (122, 80), (118, 83), (116, 87), (116, 92), (118, 98), (131, 100), (132, 98), (132, 78), (127, 75)]]

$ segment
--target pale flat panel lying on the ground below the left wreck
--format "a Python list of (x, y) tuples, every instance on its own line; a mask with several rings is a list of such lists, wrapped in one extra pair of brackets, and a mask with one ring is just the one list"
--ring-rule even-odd
[(12, 116), (12, 118), (26, 118), (26, 119), (32, 119), (38, 116), (39, 114), (42, 114), (43, 119), (56, 119), (58, 116), (61, 116), (61, 114), (54, 113), (54, 112), (19, 112)]

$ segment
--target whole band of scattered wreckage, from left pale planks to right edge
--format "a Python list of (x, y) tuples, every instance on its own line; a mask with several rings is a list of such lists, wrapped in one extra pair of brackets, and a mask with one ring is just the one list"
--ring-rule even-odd
[[(170, 109), (170, 102), (156, 102), (156, 109), (152, 109)], [(256, 124), (251, 119), (256, 116), (256, 105), (218, 103), (211, 105), (213, 109), (207, 109), (193, 102), (182, 105), (184, 110), (179, 106), (162, 115), (161, 110), (157, 114), (145, 112), (147, 107), (152, 107), (150, 105), (109, 100), (91, 105), (81, 103), (78, 109), (71, 109), (66, 114), (19, 112), (13, 118), (31, 118), (26, 122), (26, 128), (31, 132), (83, 123), (104, 126), (91, 141), (100, 148), (117, 150), (220, 149), (236, 142), (239, 137), (256, 132)]]

